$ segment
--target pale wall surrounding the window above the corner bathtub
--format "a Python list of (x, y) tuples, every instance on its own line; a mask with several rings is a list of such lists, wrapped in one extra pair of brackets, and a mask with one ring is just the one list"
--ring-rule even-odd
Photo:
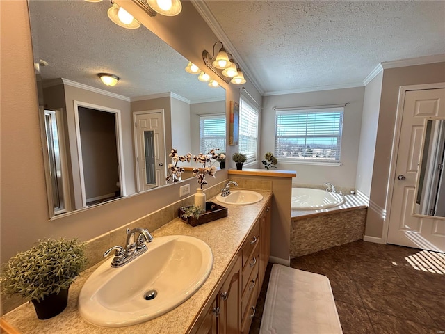
[(318, 106), (349, 102), (350, 104), (345, 107), (343, 119), (341, 166), (277, 164), (277, 168), (295, 170), (297, 177), (294, 182), (299, 184), (320, 185), (324, 182), (332, 182), (335, 186), (353, 188), (359, 154), (363, 99), (364, 87), (264, 97), (261, 115), (260, 161), (264, 159), (266, 152), (274, 152), (275, 150), (275, 111), (272, 109), (273, 106)]

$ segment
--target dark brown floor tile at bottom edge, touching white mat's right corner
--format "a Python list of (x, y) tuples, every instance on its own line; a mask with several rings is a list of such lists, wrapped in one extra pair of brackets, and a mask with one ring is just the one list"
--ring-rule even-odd
[[(343, 334), (372, 334), (374, 333), (371, 321), (366, 310), (355, 305), (335, 301), (339, 313)], [(380, 334), (380, 333), (379, 333)]]

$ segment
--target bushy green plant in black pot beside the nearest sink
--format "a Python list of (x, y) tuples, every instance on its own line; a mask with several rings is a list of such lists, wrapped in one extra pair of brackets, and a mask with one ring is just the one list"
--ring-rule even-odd
[(1, 285), (5, 294), (19, 294), (33, 302), (39, 319), (65, 310), (68, 289), (86, 267), (86, 243), (77, 239), (40, 240), (5, 264)]

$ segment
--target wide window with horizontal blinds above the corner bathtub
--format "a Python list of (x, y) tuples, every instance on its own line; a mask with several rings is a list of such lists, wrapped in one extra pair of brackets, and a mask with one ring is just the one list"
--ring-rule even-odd
[(343, 108), (277, 111), (275, 157), (340, 162)]

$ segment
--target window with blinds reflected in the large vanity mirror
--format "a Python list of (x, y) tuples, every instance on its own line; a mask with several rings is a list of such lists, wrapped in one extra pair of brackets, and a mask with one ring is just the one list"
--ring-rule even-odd
[(213, 148), (225, 150), (225, 115), (200, 116), (200, 152), (209, 153)]

